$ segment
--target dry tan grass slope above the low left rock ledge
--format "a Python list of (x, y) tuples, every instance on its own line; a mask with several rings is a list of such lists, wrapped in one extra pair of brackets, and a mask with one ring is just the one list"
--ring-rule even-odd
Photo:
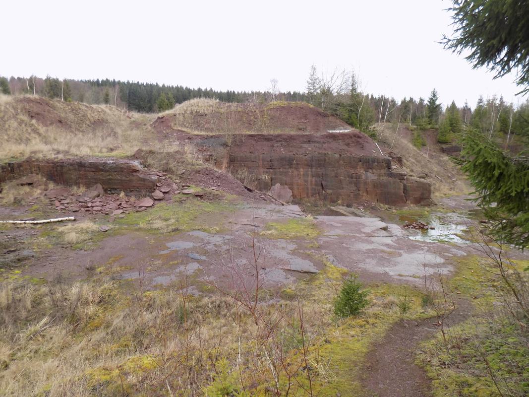
[(4, 96), (0, 159), (132, 154), (152, 136), (149, 121), (147, 115), (125, 114), (108, 105)]

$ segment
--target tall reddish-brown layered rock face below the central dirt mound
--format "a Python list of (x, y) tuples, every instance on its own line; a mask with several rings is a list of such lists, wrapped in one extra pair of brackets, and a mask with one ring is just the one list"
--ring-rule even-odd
[(430, 183), (394, 172), (391, 159), (380, 155), (375, 142), (359, 131), (236, 138), (223, 167), (245, 185), (263, 192), (280, 184), (288, 186), (295, 199), (343, 205), (431, 201)]

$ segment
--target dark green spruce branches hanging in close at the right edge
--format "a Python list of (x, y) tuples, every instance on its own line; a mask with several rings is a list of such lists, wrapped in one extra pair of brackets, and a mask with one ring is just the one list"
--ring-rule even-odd
[[(517, 71), (517, 84), (529, 91), (529, 3), (522, 0), (453, 0), (449, 10), (455, 37), (445, 48), (470, 51), (473, 67), (486, 66), (495, 77)], [(508, 21), (508, 23), (506, 23)], [(482, 102), (482, 98), (480, 98)], [(492, 221), (491, 232), (504, 242), (529, 247), (529, 136), (517, 154), (501, 150), (478, 129), (478, 102), (472, 127), (462, 136), (461, 168), (470, 178), (477, 203)], [(529, 120), (523, 123), (529, 124)], [(480, 126), (482, 127), (482, 126)], [(521, 129), (523, 131), (523, 129)], [(493, 206), (494, 205), (494, 206)]]

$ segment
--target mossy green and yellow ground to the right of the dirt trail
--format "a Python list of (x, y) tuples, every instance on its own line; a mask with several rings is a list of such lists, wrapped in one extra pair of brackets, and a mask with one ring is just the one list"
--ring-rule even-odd
[[(506, 260), (507, 277), (516, 274), (515, 277), (527, 277), (523, 271), (526, 262)], [(523, 279), (521, 283), (518, 285), (523, 288)], [(439, 335), (423, 344), (418, 362), (433, 379), (433, 395), (527, 395), (527, 318), (518, 317), (519, 305), (509, 303), (507, 285), (501, 281), (494, 262), (479, 256), (461, 258), (449, 287), (457, 294), (470, 297), (479, 310), (468, 321), (452, 327), (446, 340)]]

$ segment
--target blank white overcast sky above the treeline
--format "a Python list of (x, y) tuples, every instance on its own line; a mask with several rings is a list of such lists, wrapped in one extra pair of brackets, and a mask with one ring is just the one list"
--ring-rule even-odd
[(7, 0), (0, 75), (116, 78), (251, 91), (279, 80), (304, 91), (318, 70), (352, 68), (364, 91), (443, 105), (480, 94), (522, 101), (514, 76), (492, 80), (437, 43), (448, 0)]

